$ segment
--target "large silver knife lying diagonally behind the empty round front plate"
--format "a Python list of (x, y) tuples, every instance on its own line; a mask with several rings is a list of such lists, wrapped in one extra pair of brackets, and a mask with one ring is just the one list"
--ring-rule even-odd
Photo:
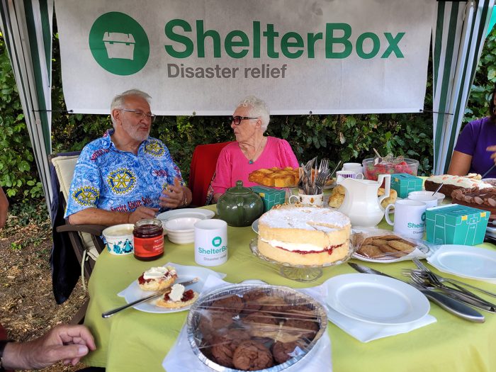
[[(383, 272), (372, 269), (371, 267), (368, 266), (364, 266), (361, 264), (354, 264), (353, 262), (348, 262), (348, 264), (356, 271), (359, 271), (359, 273), (377, 274), (377, 275), (387, 276), (388, 278), (396, 279), (397, 281), (402, 281), (401, 279), (395, 278), (394, 276), (390, 276), (388, 274), (384, 274)], [(413, 286), (411, 283), (408, 283), (407, 281), (402, 281), (402, 282), (410, 284), (410, 286)], [(461, 303), (458, 300), (450, 298), (442, 293), (430, 291), (429, 289), (419, 288), (417, 286), (413, 286), (413, 287), (417, 288), (420, 292), (422, 292), (425, 295), (425, 297), (429, 298), (429, 300), (432, 300), (441, 308), (443, 308), (448, 312), (451, 312), (451, 314), (456, 315), (457, 317), (461, 317), (462, 319), (475, 323), (485, 322), (484, 315), (480, 314), (480, 312), (478, 312), (477, 310), (470, 308), (470, 306)]]

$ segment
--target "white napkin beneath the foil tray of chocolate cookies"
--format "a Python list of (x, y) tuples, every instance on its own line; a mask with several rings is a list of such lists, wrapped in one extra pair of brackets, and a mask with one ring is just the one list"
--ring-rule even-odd
[[(253, 283), (253, 281), (250, 281)], [(264, 282), (260, 282), (264, 283)], [(232, 283), (223, 281), (216, 276), (208, 276), (204, 290), (214, 288), (221, 288), (223, 286), (230, 286)], [(308, 291), (305, 291), (308, 292)], [(310, 294), (310, 293), (309, 293)], [(169, 350), (162, 361), (162, 367), (167, 372), (184, 372), (184, 371), (211, 371), (210, 368), (205, 366), (200, 359), (193, 353), (191, 345), (188, 342), (186, 335), (186, 325), (181, 329), (176, 343)], [(332, 372), (332, 359), (331, 359), (331, 340), (327, 332), (322, 334), (320, 340), (310, 350), (310, 352), (301, 359), (298, 363), (293, 364), (286, 368), (287, 372), (314, 372), (314, 371), (329, 371)]]

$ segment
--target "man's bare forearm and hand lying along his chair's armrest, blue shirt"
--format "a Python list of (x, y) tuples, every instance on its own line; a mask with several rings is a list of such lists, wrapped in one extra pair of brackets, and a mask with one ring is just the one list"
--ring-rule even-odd
[(158, 208), (148, 208), (140, 205), (134, 212), (118, 212), (115, 210), (104, 210), (98, 208), (86, 208), (77, 213), (69, 215), (71, 225), (83, 225), (86, 223), (94, 225), (120, 225), (121, 223), (135, 223), (145, 218), (155, 218)]

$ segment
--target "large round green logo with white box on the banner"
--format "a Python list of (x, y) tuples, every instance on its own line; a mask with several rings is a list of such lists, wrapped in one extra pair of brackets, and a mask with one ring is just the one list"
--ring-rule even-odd
[(89, 48), (96, 62), (116, 75), (135, 74), (150, 56), (150, 43), (140, 23), (117, 11), (96, 19), (89, 32)]

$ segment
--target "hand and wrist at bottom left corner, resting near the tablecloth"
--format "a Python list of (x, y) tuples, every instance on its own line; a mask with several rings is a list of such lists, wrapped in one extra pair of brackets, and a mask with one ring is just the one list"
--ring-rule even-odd
[(3, 362), (6, 369), (40, 369), (57, 361), (74, 366), (95, 349), (93, 336), (84, 325), (57, 325), (34, 341), (7, 344)]

